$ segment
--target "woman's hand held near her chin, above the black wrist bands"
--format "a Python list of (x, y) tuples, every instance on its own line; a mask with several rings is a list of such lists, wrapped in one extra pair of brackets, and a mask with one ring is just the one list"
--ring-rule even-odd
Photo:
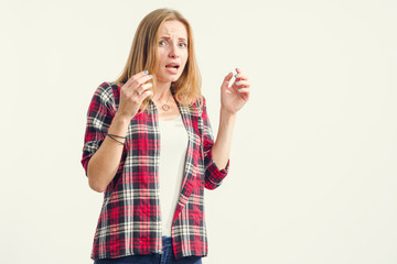
[(150, 79), (152, 79), (152, 76), (148, 75), (147, 70), (140, 72), (128, 79), (120, 90), (118, 116), (131, 120), (137, 114), (142, 101), (148, 96), (153, 95), (150, 89), (153, 86), (152, 82), (147, 82)]

